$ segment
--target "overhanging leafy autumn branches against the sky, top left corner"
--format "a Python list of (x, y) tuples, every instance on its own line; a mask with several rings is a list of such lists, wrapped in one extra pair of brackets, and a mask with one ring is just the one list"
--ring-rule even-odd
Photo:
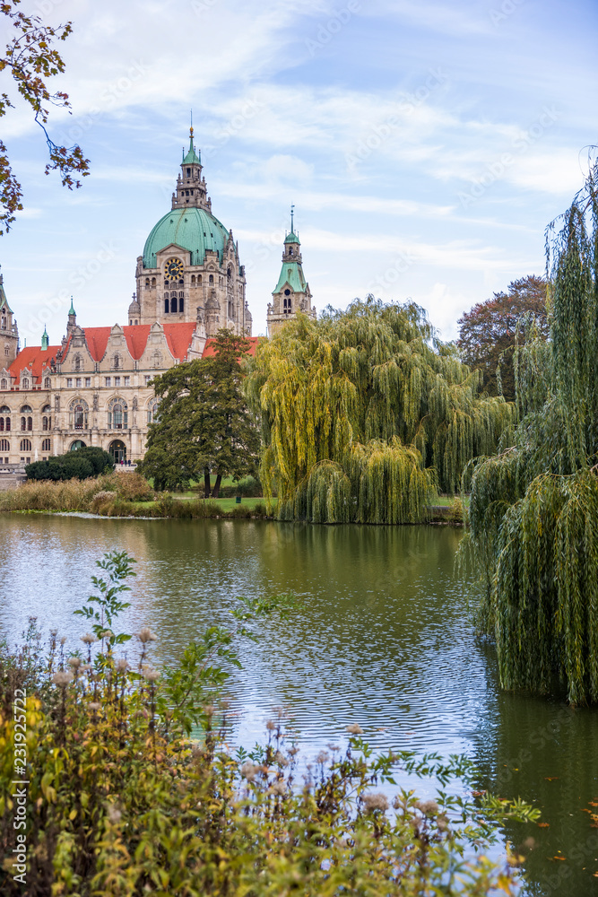
[[(80, 177), (89, 174), (89, 160), (79, 145), (60, 146), (48, 133), (50, 108), (69, 108), (68, 94), (51, 92), (48, 79), (65, 71), (65, 63), (56, 48), (56, 41), (65, 40), (72, 31), (71, 22), (65, 25), (44, 25), (38, 15), (23, 13), (21, 0), (4, 0), (0, 15), (12, 36), (0, 55), (0, 72), (13, 78), (16, 89), (33, 112), (48, 144), (49, 161), (46, 174), (57, 170), (64, 187), (81, 187)], [(2, 21), (2, 20), (0, 20)], [(8, 30), (7, 30), (8, 33)], [(0, 93), (0, 118), (13, 108), (13, 100), (5, 90)], [(22, 210), (22, 186), (17, 180), (5, 144), (0, 140), (0, 234), (8, 231), (15, 214)]]

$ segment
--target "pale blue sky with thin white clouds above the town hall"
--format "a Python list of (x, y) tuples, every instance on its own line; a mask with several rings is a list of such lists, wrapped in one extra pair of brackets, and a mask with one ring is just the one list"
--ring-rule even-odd
[[(598, 143), (598, 5), (584, 0), (36, 0), (72, 20), (76, 192), (43, 174), (17, 102), (4, 142), (25, 211), (0, 238), (22, 339), (126, 323), (137, 256), (169, 210), (193, 108), (212, 211), (238, 239), (254, 334), (290, 204), (317, 309), (412, 299), (446, 338), (476, 301), (542, 274), (544, 228)], [(3, 89), (7, 84), (7, 73)]]

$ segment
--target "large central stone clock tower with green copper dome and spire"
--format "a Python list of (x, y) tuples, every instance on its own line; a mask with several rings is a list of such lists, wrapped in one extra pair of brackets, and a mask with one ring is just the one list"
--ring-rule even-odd
[(207, 336), (221, 327), (251, 335), (245, 269), (239, 264), (232, 231), (212, 215), (193, 127), (172, 208), (146, 239), (135, 277), (137, 292), (129, 306), (129, 325), (199, 320)]

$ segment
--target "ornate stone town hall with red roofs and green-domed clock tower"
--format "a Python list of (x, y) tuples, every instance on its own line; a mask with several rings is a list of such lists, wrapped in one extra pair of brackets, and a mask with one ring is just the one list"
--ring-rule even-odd
[[(210, 354), (221, 327), (251, 336), (245, 269), (232, 231), (212, 215), (193, 128), (172, 208), (146, 239), (135, 279), (125, 326), (81, 327), (72, 303), (60, 345), (49, 345), (44, 331), (39, 346), (20, 350), (0, 275), (0, 466), (82, 446), (138, 460), (157, 409), (152, 379)], [(291, 223), (268, 334), (298, 310), (315, 317), (310, 300)]]

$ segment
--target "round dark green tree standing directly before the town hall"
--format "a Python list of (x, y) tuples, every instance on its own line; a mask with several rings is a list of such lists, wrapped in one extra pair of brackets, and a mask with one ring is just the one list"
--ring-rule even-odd
[(212, 346), (210, 357), (179, 364), (154, 380), (159, 415), (150, 425), (142, 467), (156, 488), (204, 477), (205, 497), (216, 498), (222, 476), (238, 480), (256, 472), (259, 431), (241, 389), (250, 343), (224, 329)]

